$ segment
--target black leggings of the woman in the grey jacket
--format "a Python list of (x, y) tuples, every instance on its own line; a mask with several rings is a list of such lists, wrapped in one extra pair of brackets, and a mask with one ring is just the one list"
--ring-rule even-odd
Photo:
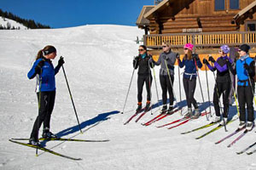
[[(171, 81), (172, 85), (174, 82), (174, 77), (171, 75)], [(163, 105), (166, 105), (167, 103), (167, 90), (169, 93), (169, 99), (170, 99), (170, 105), (173, 105), (174, 97), (172, 92), (172, 85), (170, 82), (170, 78), (168, 75), (160, 75), (160, 85), (162, 88), (162, 99), (163, 99)]]

